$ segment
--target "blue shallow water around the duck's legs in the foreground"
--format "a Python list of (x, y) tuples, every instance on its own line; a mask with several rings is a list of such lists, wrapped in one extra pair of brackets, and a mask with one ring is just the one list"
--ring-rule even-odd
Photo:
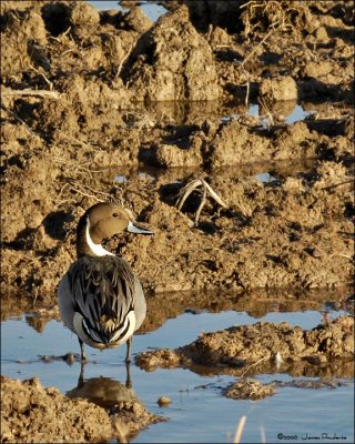
[[(343, 312), (329, 311), (331, 319)], [(323, 310), (304, 312), (274, 312), (257, 321), (286, 321), (303, 329), (317, 325)], [(20, 380), (38, 376), (44, 386), (53, 385), (62, 393), (77, 387), (80, 364), (68, 365), (62, 360), (44, 362), (40, 356), (61, 356), (72, 351), (79, 353), (77, 337), (60, 322), (50, 321), (42, 333), (38, 333), (29, 323), (33, 315), (11, 317), (2, 323), (1, 350), (2, 374)], [(160, 347), (176, 347), (196, 339), (202, 331), (211, 332), (232, 325), (251, 324), (256, 319), (245, 312), (226, 311), (221, 313), (184, 313), (168, 320), (152, 333), (134, 337), (133, 352)], [(84, 379), (103, 376), (115, 383), (124, 383), (126, 377), (125, 347), (104, 352), (87, 349), (89, 363), (84, 369)], [(341, 380), (351, 385), (336, 389), (292, 389), (283, 387), (277, 394), (258, 402), (229, 400), (222, 395), (222, 389), (234, 377), (201, 376), (190, 370), (156, 370), (145, 372), (134, 364), (131, 376), (135, 395), (155, 414), (169, 418), (168, 422), (151, 425), (143, 430), (132, 442), (232, 442), (241, 416), (247, 421), (242, 442), (282, 442), (277, 434), (297, 436), (292, 442), (306, 441), (308, 436), (328, 436), (345, 438), (336, 442), (354, 442), (353, 413), (354, 385), (351, 380)], [(266, 383), (274, 380), (294, 380), (286, 374), (258, 375)], [(304, 380), (304, 377), (302, 377)], [(307, 379), (317, 380), (317, 379)], [(172, 400), (169, 407), (156, 404), (161, 395)], [(325, 435), (324, 435), (325, 436)], [(290, 438), (291, 440), (291, 438)], [(288, 441), (290, 441), (288, 440)], [(334, 442), (323, 438), (322, 442)], [(308, 441), (310, 442), (310, 441)]]

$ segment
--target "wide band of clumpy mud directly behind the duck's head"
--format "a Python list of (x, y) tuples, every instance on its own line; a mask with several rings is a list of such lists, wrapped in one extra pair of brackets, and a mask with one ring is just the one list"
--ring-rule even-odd
[[(226, 208), (207, 199), (196, 228), (199, 190), (181, 211), (175, 206), (180, 190), (193, 178), (181, 179), (166, 183), (138, 175), (116, 184), (104, 172), (68, 172), (65, 164), (43, 154), (28, 161), (20, 181), (16, 170), (8, 171), (2, 193), (4, 283), (53, 303), (55, 286), (74, 259), (77, 221), (97, 199), (123, 201), (154, 230), (152, 238), (124, 234), (106, 245), (125, 258), (152, 293), (351, 282), (354, 194), (342, 164), (320, 162), (311, 176), (271, 183), (211, 174), (206, 180)], [(19, 206), (10, 205), (13, 199)]]

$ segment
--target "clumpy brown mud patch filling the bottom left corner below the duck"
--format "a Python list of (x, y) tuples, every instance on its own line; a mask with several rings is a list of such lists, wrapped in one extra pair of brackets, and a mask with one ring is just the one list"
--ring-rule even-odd
[[(82, 393), (71, 393), (78, 396)], [(42, 387), (37, 377), (20, 382), (1, 376), (1, 442), (126, 442), (159, 421), (138, 400), (115, 402), (109, 415), (87, 400), (71, 400), (54, 387)]]

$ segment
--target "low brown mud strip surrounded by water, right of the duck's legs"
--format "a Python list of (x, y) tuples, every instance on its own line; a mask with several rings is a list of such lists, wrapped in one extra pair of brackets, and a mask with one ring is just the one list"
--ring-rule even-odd
[(141, 353), (136, 364), (146, 371), (183, 366), (204, 374), (210, 370), (239, 376), (278, 372), (351, 377), (353, 335), (353, 316), (326, 321), (310, 331), (285, 322), (258, 322), (203, 333), (192, 344), (175, 350)]

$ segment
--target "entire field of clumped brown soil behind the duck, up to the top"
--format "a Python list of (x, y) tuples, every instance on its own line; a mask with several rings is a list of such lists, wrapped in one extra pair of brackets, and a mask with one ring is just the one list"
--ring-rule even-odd
[[(106, 243), (150, 306), (180, 301), (146, 330), (191, 305), (174, 292), (352, 281), (353, 3), (180, 3), (153, 23), (136, 7), (1, 2), (8, 300), (24, 293), (23, 307), (54, 310), (75, 224), (100, 200), (123, 202), (155, 232)], [(310, 115), (287, 123), (297, 103)], [(267, 182), (253, 176), (265, 172)], [(179, 210), (201, 178), (223, 205), (207, 194), (199, 209), (200, 188)]]

